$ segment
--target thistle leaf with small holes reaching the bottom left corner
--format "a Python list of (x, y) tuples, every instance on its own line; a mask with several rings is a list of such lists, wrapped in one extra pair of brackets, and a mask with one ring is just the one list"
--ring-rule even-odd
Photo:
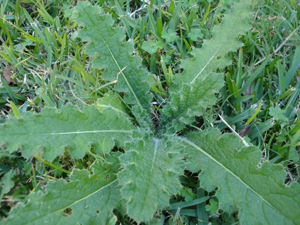
[[(94, 161), (86, 169), (73, 169), (70, 181), (49, 181), (45, 191), (31, 192), (26, 203), (18, 203), (1, 224), (106, 224), (119, 204), (117, 156)], [(71, 209), (66, 216), (65, 209)]]

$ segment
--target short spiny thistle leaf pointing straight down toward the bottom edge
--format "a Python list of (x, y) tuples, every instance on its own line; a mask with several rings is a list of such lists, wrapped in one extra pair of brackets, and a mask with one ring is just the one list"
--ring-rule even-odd
[(169, 196), (180, 188), (178, 176), (183, 174), (176, 142), (144, 135), (135, 138), (120, 156), (118, 174), (127, 214), (136, 220), (149, 221), (155, 210), (168, 206)]

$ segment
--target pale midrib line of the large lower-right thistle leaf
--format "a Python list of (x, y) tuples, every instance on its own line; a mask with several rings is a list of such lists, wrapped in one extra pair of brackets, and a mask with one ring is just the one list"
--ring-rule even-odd
[(184, 142), (188, 143), (189, 145), (193, 146), (197, 150), (201, 151), (203, 154), (205, 154), (207, 157), (209, 157), (211, 160), (213, 160), (215, 163), (219, 164), (221, 167), (223, 167), (227, 172), (229, 172), (231, 175), (233, 175), (236, 179), (238, 179), (242, 184), (244, 184), (248, 189), (250, 189), (253, 193), (255, 193), (258, 197), (260, 197), (264, 202), (266, 202), (270, 207), (272, 207), (274, 210), (276, 210), (280, 215), (285, 217), (287, 220), (291, 221), (286, 215), (282, 214), (275, 206), (273, 206), (270, 202), (268, 202), (266, 199), (264, 199), (259, 193), (257, 193), (254, 189), (252, 189), (248, 184), (246, 184), (239, 176), (237, 176), (235, 173), (233, 173), (230, 169), (228, 169), (226, 166), (224, 166), (222, 163), (220, 163), (218, 160), (216, 160), (214, 157), (212, 157), (210, 154), (208, 154), (206, 151), (204, 151), (201, 147), (196, 145), (194, 142), (188, 140), (187, 138), (179, 137)]

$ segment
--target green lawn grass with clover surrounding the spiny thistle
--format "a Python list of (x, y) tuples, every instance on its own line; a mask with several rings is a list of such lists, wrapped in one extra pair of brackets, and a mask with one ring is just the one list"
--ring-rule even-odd
[[(91, 104), (111, 89), (113, 83), (101, 80), (101, 70), (89, 66), (85, 46), (74, 32), (76, 24), (63, 15), (74, 2), (62, 2), (0, 0), (0, 122), (28, 110), (38, 112), (45, 105), (60, 108), (66, 102)], [(212, 25), (219, 23), (233, 0), (97, 2), (113, 15), (116, 24), (125, 27), (136, 54), (153, 74), (149, 83), (154, 93), (155, 120), (168, 97), (168, 84), (181, 71), (180, 59), (192, 57), (192, 47), (200, 47), (203, 39), (210, 37)], [(231, 132), (221, 115), (239, 132), (259, 119), (246, 140), (262, 149), (263, 159), (285, 167), (286, 182), (298, 179), (300, 173), (299, 9), (300, 4), (293, 0), (253, 1), (252, 28), (241, 37), (244, 46), (231, 54), (232, 64), (221, 71), (225, 85), (219, 101), (190, 127), (214, 126)], [(9, 68), (16, 84), (4, 79), (5, 68)], [(19, 152), (0, 152), (0, 157), (0, 215), (6, 216), (10, 207), (25, 201), (30, 191), (43, 189), (50, 179), (67, 177), (74, 167), (88, 168), (101, 156), (91, 152), (75, 160), (65, 152), (51, 164), (39, 156), (24, 160)], [(158, 212), (159, 224), (236, 224), (235, 214), (205, 210), (212, 202), (209, 200), (216, 198), (213, 192), (199, 188), (196, 175), (186, 172), (181, 177), (184, 188), (172, 198), (169, 208)], [(116, 224), (120, 223), (131, 221), (118, 215)]]

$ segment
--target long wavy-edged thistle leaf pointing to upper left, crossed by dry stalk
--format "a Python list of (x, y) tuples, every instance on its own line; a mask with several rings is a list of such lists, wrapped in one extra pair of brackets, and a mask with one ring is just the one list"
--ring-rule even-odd
[[(79, 1), (73, 10), (77, 12), (75, 21), (83, 26), (78, 31), (78, 36), (83, 41), (89, 41), (85, 52), (94, 57), (92, 66), (105, 68), (103, 79), (117, 80), (114, 90), (126, 93), (124, 100), (133, 104), (133, 107), (138, 107), (134, 112), (149, 112), (152, 96), (146, 80), (150, 73), (141, 68), (141, 58), (132, 55), (133, 44), (124, 41), (124, 28), (112, 27), (111, 15), (101, 13), (100, 7), (90, 6), (87, 1)], [(149, 115), (141, 113), (146, 117), (138, 122), (150, 125), (152, 122)]]

